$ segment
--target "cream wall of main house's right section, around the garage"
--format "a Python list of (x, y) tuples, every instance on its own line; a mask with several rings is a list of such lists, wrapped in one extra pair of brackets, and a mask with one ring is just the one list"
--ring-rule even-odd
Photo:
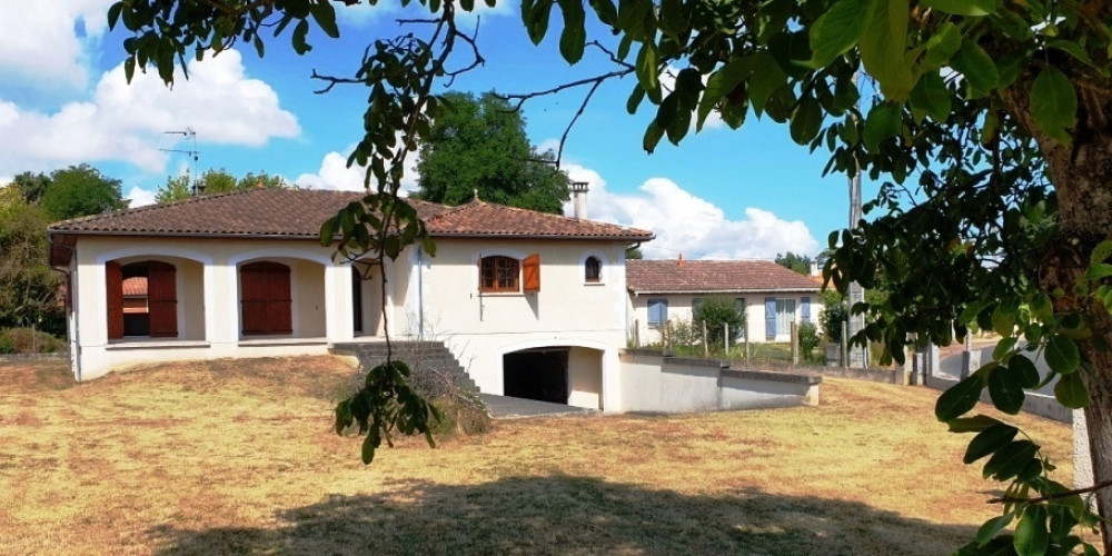
[[(449, 346), (483, 391), (504, 393), (505, 354), (543, 347), (584, 348), (572, 353), (569, 368), (582, 373), (569, 376), (570, 401), (584, 407), (618, 406), (616, 383), (609, 383), (617, 379), (618, 350), (626, 345), (624, 244), (440, 238), (436, 246), (435, 258), (417, 250), (408, 254), (406, 314), (410, 322), (424, 322), (426, 338)], [(539, 291), (480, 291), (481, 258), (522, 260), (530, 255), (540, 259)], [(597, 282), (586, 280), (587, 257), (602, 262)], [(587, 379), (596, 374), (597, 384)]]

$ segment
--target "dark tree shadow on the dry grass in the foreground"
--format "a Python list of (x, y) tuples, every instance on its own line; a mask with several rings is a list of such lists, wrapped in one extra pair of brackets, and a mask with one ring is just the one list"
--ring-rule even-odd
[(149, 532), (160, 554), (947, 554), (973, 526), (748, 489), (688, 496), (595, 478), (413, 483), (281, 510), (275, 528)]

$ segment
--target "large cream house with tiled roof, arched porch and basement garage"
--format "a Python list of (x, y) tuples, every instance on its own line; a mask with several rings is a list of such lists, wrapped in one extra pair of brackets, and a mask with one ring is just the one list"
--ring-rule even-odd
[[(475, 200), (411, 200), (436, 242), (332, 259), (321, 222), (359, 192), (255, 189), (50, 227), (79, 379), (160, 360), (325, 354), (437, 338), (486, 393), (602, 408), (626, 345), (625, 249), (649, 231)], [(383, 295), (385, 291), (385, 295)], [(547, 371), (546, 371), (547, 373)], [(536, 373), (534, 373), (536, 374)], [(528, 391), (526, 391), (528, 390)]]

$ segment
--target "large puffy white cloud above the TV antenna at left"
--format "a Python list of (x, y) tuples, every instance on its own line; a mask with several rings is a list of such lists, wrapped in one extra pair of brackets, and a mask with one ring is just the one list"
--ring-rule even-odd
[[(202, 143), (259, 147), (300, 132), (267, 83), (244, 73), (239, 52), (189, 66), (190, 79), (168, 89), (156, 73), (129, 86), (122, 66), (105, 73), (88, 101), (53, 113), (21, 110), (0, 99), (0, 173), (121, 160), (161, 171), (173, 147), (165, 132), (191, 127)], [(189, 148), (192, 146), (189, 145)]]

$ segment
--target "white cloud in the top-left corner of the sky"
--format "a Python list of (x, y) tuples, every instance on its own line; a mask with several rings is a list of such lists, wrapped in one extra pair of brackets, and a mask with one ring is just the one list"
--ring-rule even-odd
[(0, 18), (0, 73), (37, 88), (83, 88), (89, 52), (108, 27), (112, 1), (8, 0)]

